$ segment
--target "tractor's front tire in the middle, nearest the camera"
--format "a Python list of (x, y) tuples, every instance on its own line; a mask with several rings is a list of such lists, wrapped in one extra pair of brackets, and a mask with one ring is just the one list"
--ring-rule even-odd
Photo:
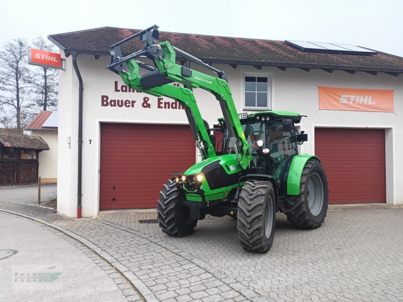
[[(238, 201), (238, 239), (245, 250), (266, 253), (273, 245), (276, 197), (271, 182), (248, 180)], [(267, 212), (266, 212), (267, 211)]]

